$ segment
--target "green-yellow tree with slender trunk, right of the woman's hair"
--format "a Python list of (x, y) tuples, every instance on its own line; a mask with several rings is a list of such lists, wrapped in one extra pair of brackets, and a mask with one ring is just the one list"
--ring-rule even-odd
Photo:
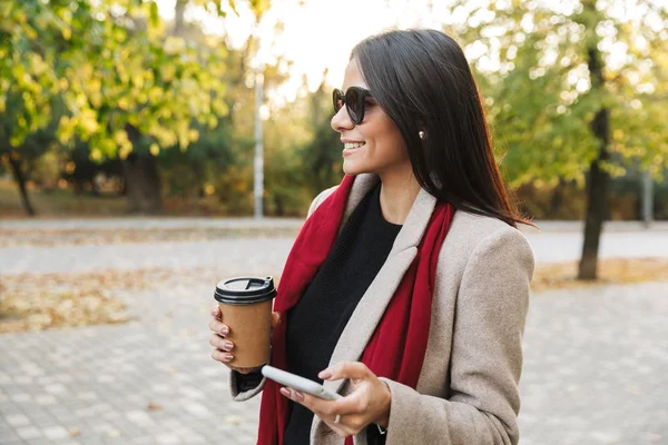
[[(587, 184), (580, 279), (597, 277), (609, 176), (668, 165), (665, 7), (644, 0), (458, 2), (511, 184)], [(664, 93), (658, 93), (664, 91)]]

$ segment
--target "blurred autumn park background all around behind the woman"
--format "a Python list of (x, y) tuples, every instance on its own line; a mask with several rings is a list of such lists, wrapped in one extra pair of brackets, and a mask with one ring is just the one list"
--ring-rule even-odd
[(464, 49), (537, 256), (522, 444), (668, 443), (668, 1), (0, 1), (0, 443), (255, 441), (218, 279), (342, 179), (350, 51)]

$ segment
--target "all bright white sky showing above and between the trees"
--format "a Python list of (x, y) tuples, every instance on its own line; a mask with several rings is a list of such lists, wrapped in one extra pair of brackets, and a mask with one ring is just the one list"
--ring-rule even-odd
[[(466, 9), (478, 4), (485, 4), (488, 0), (469, 0)], [(498, 3), (508, 3), (511, 0), (497, 0)], [(561, 13), (572, 13), (579, 3), (577, 0), (534, 0), (550, 2), (550, 7)], [(635, 6), (636, 0), (598, 0), (611, 16), (629, 18), (638, 16), (641, 8)], [(668, 0), (652, 0), (656, 6), (668, 8)], [(157, 0), (159, 13), (167, 20), (174, 18), (176, 0)], [(245, 1), (237, 1), (235, 14), (229, 11), (225, 19), (214, 18), (202, 8), (186, 10), (186, 20), (200, 22), (207, 33), (227, 33), (228, 42), (240, 48), (248, 36), (254, 32), (254, 17)], [(305, 76), (308, 89), (314, 91), (323, 80), (323, 72), (327, 69), (326, 81), (330, 86), (340, 87), (353, 47), (362, 39), (390, 28), (441, 28), (444, 18), (450, 23), (463, 22), (469, 18), (463, 9), (454, 13), (446, 12), (448, 0), (273, 0), (272, 8), (263, 17), (261, 27), (256, 32), (261, 36), (261, 51), (258, 63), (274, 63), (277, 56), (291, 60), (289, 79), (276, 90), (266, 91), (269, 101), (281, 107), (294, 100), (301, 91)], [(605, 4), (603, 4), (605, 3)], [(626, 8), (625, 8), (626, 7)], [(458, 17), (461, 16), (461, 17)], [(657, 18), (658, 19), (658, 18)], [(283, 31), (276, 33), (275, 27), (281, 20)], [(661, 27), (660, 20), (651, 23)], [(607, 48), (611, 55), (610, 68), (621, 65), (626, 48)], [(477, 59), (475, 44), (464, 49), (469, 59)], [(487, 52), (487, 49), (483, 50)], [(482, 55), (478, 60), (481, 69), (494, 69), (498, 62)], [(497, 65), (495, 65), (497, 63)], [(487, 67), (485, 67), (487, 65)], [(587, 77), (586, 73), (583, 76)], [(574, 79), (578, 89), (587, 89), (586, 79)], [(581, 88), (580, 88), (581, 87)]]

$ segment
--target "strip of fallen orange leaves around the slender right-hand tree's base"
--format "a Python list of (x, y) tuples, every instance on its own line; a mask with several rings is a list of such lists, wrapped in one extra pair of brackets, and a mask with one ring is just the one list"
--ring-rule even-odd
[(533, 291), (548, 289), (573, 289), (642, 281), (668, 280), (668, 258), (609, 258), (599, 259), (599, 279), (576, 279), (578, 263), (556, 263), (538, 266), (531, 283)]

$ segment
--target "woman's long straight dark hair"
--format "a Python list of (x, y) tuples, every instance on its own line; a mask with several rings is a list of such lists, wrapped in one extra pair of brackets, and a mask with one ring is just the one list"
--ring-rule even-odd
[[(387, 31), (355, 46), (374, 99), (396, 123), (418, 182), (440, 200), (517, 227), (481, 96), (460, 46), (430, 29)], [(424, 131), (420, 139), (419, 131)]]

